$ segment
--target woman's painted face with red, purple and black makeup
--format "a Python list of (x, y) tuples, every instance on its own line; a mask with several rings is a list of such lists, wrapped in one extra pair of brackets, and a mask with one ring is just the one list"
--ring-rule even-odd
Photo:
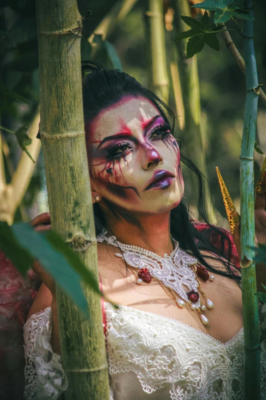
[(138, 214), (165, 213), (180, 203), (179, 148), (148, 99), (124, 97), (86, 131), (91, 186), (103, 202)]

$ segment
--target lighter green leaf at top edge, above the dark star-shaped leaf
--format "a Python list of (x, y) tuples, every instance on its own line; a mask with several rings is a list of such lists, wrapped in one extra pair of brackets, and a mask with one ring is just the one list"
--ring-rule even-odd
[(216, 25), (228, 21), (232, 16), (254, 20), (255, 18), (247, 10), (238, 7), (240, 3), (238, 0), (205, 0), (205, 2), (195, 4), (192, 7), (215, 11), (214, 22)]

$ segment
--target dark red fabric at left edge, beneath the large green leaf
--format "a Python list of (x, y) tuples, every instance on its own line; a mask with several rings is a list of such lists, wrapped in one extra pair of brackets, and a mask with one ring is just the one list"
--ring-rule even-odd
[(37, 294), (37, 275), (28, 279), (0, 251), (0, 398), (23, 398), (23, 325)]

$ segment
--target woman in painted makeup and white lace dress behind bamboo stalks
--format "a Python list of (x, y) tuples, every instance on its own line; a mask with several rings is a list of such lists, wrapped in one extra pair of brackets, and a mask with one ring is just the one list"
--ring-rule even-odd
[[(110, 397), (242, 399), (235, 246), (225, 231), (208, 223), (202, 229), (189, 218), (180, 160), (199, 179), (199, 209), (206, 221), (203, 182), (193, 162), (180, 154), (174, 114), (127, 74), (96, 63), (83, 69), (90, 71), (83, 93), (99, 275), (103, 293), (120, 304), (114, 309), (105, 303), (104, 310)], [(48, 222), (44, 215), (33, 225)], [(60, 364), (55, 287), (36, 268), (43, 284), (24, 328), (25, 397), (56, 399), (67, 380)], [(263, 352), (265, 381), (264, 359)]]

